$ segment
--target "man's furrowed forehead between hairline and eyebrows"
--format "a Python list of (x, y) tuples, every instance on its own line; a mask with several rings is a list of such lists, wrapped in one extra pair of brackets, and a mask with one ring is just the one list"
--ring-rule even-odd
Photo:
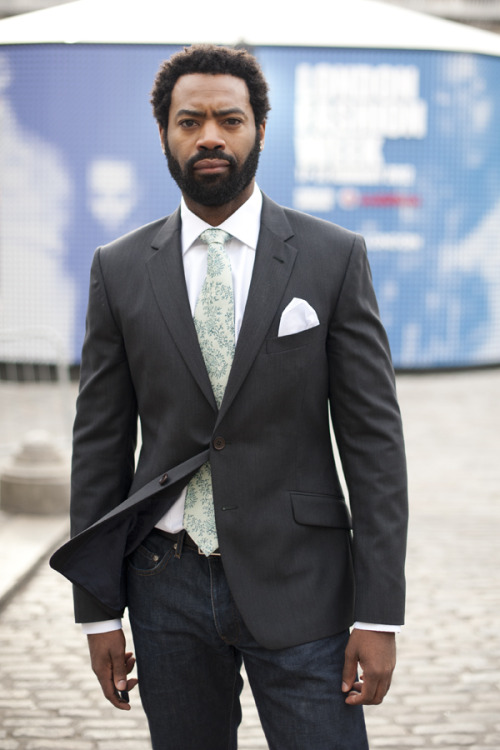
[(181, 109), (207, 111), (231, 107), (252, 112), (248, 86), (236, 76), (189, 73), (181, 76), (172, 89), (170, 114), (173, 116)]

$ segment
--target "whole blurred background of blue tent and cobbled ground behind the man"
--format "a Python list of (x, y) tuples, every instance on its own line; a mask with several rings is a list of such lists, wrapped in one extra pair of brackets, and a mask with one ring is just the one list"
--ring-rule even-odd
[[(370, 746), (498, 750), (500, 0), (0, 0), (0, 18), (0, 750), (150, 747), (137, 691), (127, 716), (103, 701), (47, 558), (91, 258), (178, 204), (149, 92), (199, 41), (249, 47), (269, 80), (261, 188), (367, 239), (411, 507)], [(239, 747), (267, 748), (242, 702)]]

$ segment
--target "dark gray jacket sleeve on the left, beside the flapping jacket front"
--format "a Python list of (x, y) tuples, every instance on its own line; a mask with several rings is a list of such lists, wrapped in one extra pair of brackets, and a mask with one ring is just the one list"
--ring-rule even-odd
[[(71, 534), (78, 534), (127, 496), (134, 473), (137, 402), (123, 338), (101, 267), (92, 263), (80, 392), (73, 432)], [(103, 560), (103, 564), (105, 561)], [(78, 622), (120, 616), (74, 590)]]

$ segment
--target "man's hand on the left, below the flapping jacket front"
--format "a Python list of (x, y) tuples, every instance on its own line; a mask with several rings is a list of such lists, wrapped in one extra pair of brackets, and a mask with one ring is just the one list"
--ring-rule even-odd
[(121, 698), (117, 692), (128, 692), (137, 685), (136, 679), (127, 679), (134, 668), (135, 658), (130, 651), (125, 652), (123, 630), (96, 633), (87, 638), (92, 669), (101, 683), (102, 692), (115, 708), (130, 711), (128, 700)]

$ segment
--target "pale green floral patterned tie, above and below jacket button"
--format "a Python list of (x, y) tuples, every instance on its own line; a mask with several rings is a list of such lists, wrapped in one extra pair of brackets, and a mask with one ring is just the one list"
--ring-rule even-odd
[[(196, 303), (194, 325), (217, 406), (220, 407), (234, 357), (234, 295), (231, 262), (223, 229), (206, 229), (207, 275)], [(217, 549), (210, 463), (203, 464), (187, 487), (184, 528), (205, 555)]]

